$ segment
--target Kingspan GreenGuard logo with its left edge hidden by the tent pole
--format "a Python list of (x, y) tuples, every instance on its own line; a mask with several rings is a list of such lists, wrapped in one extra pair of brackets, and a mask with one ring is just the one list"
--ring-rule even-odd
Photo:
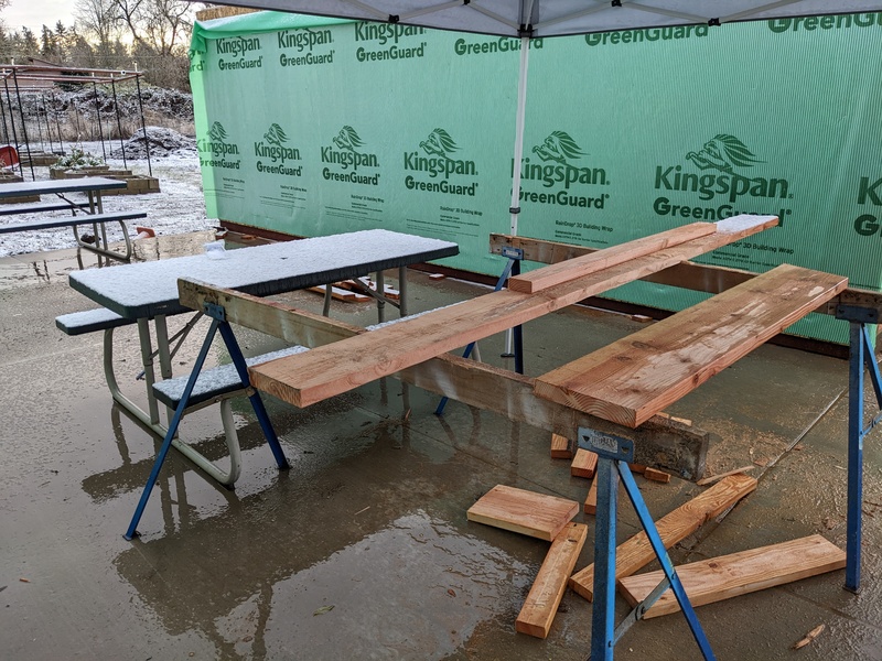
[[(520, 163), (520, 199), (540, 204), (572, 207), (593, 207), (602, 209), (607, 193), (596, 196), (579, 195), (570, 192), (572, 186), (606, 186), (609, 181), (603, 167), (583, 166), (579, 161), (588, 154), (567, 131), (551, 131), (542, 142), (533, 148), (539, 162), (529, 156)], [(512, 161), (514, 174), (514, 160)], [(525, 188), (525, 184), (527, 188)], [(530, 184), (541, 184), (544, 188), (559, 186), (557, 192), (530, 191)]]

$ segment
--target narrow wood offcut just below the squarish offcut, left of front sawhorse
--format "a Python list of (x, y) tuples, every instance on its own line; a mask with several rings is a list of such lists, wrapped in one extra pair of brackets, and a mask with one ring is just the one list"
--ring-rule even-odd
[(542, 566), (536, 575), (520, 614), (515, 620), (515, 630), (536, 638), (546, 638), (557, 615), (567, 579), (576, 566), (588, 537), (584, 523), (567, 523), (551, 542)]

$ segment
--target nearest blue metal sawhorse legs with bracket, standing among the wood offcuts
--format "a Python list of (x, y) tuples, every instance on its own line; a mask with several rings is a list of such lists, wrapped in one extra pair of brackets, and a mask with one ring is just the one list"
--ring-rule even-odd
[[(714, 659), (704, 631), (698, 621), (689, 597), (677, 576), (674, 563), (646, 508), (628, 464), (634, 463), (634, 442), (611, 434), (579, 427), (579, 447), (598, 454), (598, 511), (594, 524), (594, 603), (591, 613), (591, 661), (612, 661), (615, 643), (646, 610), (670, 587), (686, 617), (692, 637), (706, 660)], [(615, 523), (619, 478), (625, 485), (631, 503), (637, 512), (649, 544), (653, 546), (665, 577), (624, 620), (615, 627)]]

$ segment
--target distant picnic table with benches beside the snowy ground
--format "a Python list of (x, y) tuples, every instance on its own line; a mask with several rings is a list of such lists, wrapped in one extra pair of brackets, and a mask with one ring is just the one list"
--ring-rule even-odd
[[(85, 176), (80, 178), (49, 180), (39, 182), (13, 182), (10, 184), (0, 185), (0, 199), (30, 197), (35, 195), (55, 195), (56, 197), (56, 199), (50, 203), (41, 202), (29, 204), (26, 206), (0, 208), (0, 216), (43, 214), (49, 212), (66, 210), (72, 213), (71, 216), (45, 217), (39, 220), (0, 224), (0, 234), (52, 229), (56, 227), (71, 227), (74, 230), (74, 238), (76, 239), (77, 246), (80, 248), (85, 248), (86, 250), (97, 254), (103, 254), (104, 257), (128, 262), (131, 260), (131, 239), (129, 238), (126, 221), (146, 218), (147, 214), (143, 212), (117, 212), (105, 214), (101, 203), (101, 191), (125, 188), (126, 186), (127, 183), (122, 180), (112, 180), (101, 176)], [(86, 201), (79, 202), (76, 199), (71, 199), (68, 195), (72, 193), (85, 193)], [(77, 215), (77, 213), (82, 213), (82, 215)], [(122, 228), (122, 236), (126, 241), (125, 253), (119, 253), (108, 249), (106, 229), (107, 223), (119, 223), (120, 227)], [(85, 241), (79, 237), (79, 231), (77, 228), (82, 225), (93, 226), (94, 243)], [(100, 236), (98, 234), (98, 226), (100, 226)]]

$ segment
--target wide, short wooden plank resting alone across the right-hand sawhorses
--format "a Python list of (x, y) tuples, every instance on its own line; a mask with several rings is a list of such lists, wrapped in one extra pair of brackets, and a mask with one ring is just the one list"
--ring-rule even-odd
[(630, 427), (825, 301), (848, 279), (782, 264), (536, 379), (536, 394)]

